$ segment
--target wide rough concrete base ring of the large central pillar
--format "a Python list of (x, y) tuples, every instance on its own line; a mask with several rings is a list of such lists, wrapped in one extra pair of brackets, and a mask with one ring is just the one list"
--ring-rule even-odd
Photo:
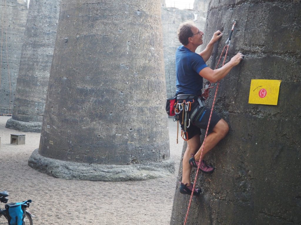
[(104, 165), (61, 161), (39, 155), (36, 149), (29, 157), (28, 165), (42, 173), (67, 180), (91, 181), (140, 181), (170, 176), (175, 172), (169, 159), (160, 163)]

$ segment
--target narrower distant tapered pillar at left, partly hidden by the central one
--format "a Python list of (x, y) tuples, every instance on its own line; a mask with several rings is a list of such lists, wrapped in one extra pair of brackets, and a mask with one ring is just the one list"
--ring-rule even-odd
[(7, 128), (41, 132), (60, 0), (31, 0), (12, 118)]

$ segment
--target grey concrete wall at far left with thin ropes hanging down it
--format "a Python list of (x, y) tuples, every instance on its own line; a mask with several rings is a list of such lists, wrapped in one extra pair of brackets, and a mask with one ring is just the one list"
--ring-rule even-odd
[(0, 114), (12, 113), (27, 13), (27, 1), (0, 1)]

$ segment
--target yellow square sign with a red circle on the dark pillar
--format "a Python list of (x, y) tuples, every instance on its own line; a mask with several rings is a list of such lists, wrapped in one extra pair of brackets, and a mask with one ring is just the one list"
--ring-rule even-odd
[(249, 104), (277, 105), (281, 80), (251, 80)]

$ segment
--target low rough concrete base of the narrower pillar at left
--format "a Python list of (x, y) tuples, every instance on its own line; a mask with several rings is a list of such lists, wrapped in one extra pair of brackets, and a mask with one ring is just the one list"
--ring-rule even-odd
[(5, 127), (17, 131), (40, 133), (42, 129), (42, 122), (23, 122), (11, 118), (8, 119)]

